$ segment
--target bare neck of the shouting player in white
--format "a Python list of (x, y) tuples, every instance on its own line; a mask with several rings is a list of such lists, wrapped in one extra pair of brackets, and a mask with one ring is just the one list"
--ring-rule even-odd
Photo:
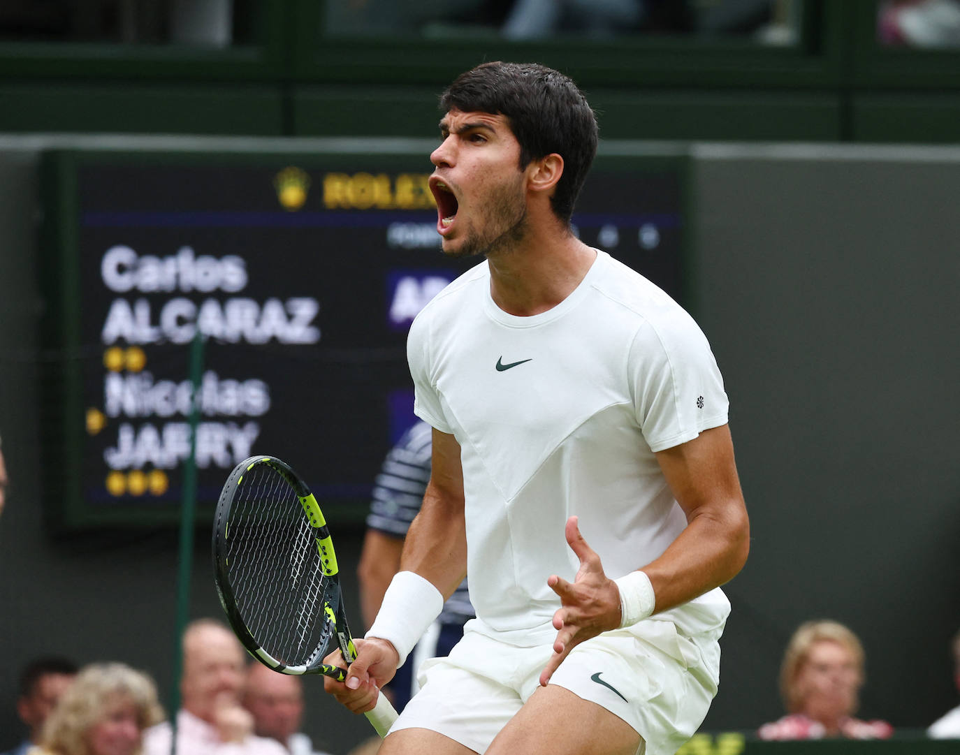
[(595, 259), (565, 227), (531, 229), (515, 248), (489, 255), (493, 302), (509, 315), (540, 315), (573, 293)]

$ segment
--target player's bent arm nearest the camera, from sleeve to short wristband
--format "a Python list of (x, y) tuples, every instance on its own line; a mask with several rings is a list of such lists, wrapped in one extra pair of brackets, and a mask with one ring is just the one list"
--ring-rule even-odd
[(750, 550), (750, 522), (727, 425), (660, 451), (657, 460), (687, 522), (660, 557), (639, 565), (662, 611), (737, 575)]

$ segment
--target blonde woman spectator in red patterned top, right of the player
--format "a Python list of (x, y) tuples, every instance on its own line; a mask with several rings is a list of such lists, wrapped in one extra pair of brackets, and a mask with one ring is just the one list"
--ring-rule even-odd
[(842, 624), (801, 625), (783, 655), (780, 693), (789, 715), (760, 727), (761, 740), (883, 740), (893, 726), (853, 718), (864, 682), (863, 646)]

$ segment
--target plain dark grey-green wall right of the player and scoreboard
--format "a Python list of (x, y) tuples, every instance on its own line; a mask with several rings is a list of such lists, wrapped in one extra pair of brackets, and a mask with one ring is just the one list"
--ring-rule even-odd
[(956, 704), (960, 151), (696, 154), (692, 298), (753, 534), (708, 723), (779, 715), (782, 649), (815, 618), (862, 638), (864, 715), (928, 723)]

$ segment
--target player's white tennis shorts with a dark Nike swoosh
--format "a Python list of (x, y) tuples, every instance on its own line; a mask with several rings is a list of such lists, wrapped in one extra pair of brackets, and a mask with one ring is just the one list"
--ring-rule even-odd
[[(646, 755), (673, 755), (707, 716), (719, 680), (719, 631), (678, 634), (647, 620), (581, 643), (550, 679), (627, 721)], [(549, 645), (517, 648), (469, 629), (449, 656), (420, 667), (420, 692), (391, 731), (425, 728), (482, 753), (537, 691)], [(638, 753), (643, 753), (641, 745)]]

